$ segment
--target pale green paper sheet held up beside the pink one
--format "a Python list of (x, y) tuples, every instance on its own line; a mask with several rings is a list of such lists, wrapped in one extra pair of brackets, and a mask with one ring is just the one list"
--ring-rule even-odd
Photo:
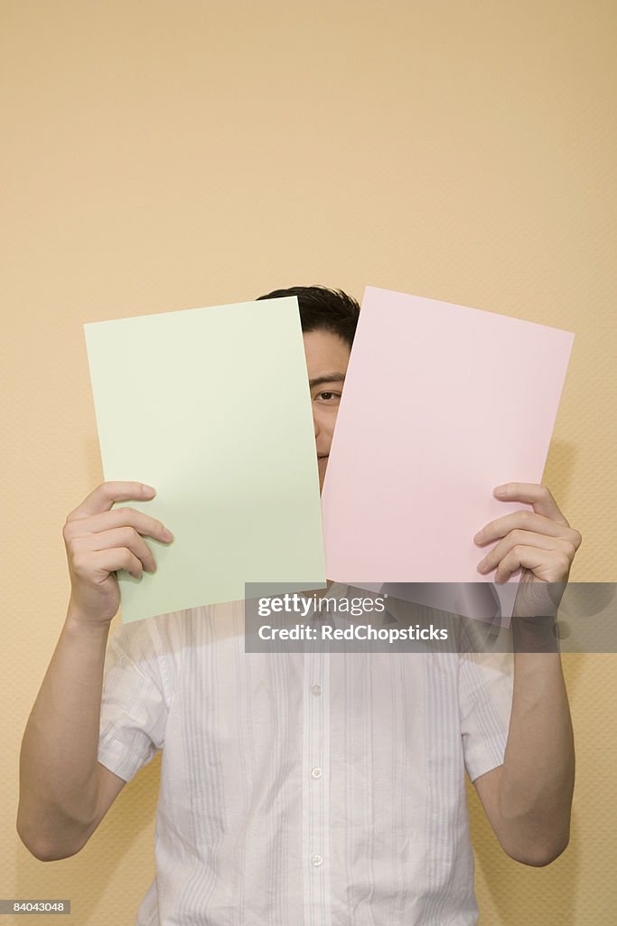
[(160, 519), (157, 571), (120, 569), (122, 619), (326, 586), (311, 397), (295, 296), (84, 325), (105, 481)]

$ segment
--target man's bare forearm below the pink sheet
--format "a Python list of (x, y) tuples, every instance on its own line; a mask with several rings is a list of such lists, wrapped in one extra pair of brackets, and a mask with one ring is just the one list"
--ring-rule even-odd
[(558, 652), (514, 654), (512, 715), (500, 777), (500, 816), (525, 857), (568, 843), (574, 733)]

